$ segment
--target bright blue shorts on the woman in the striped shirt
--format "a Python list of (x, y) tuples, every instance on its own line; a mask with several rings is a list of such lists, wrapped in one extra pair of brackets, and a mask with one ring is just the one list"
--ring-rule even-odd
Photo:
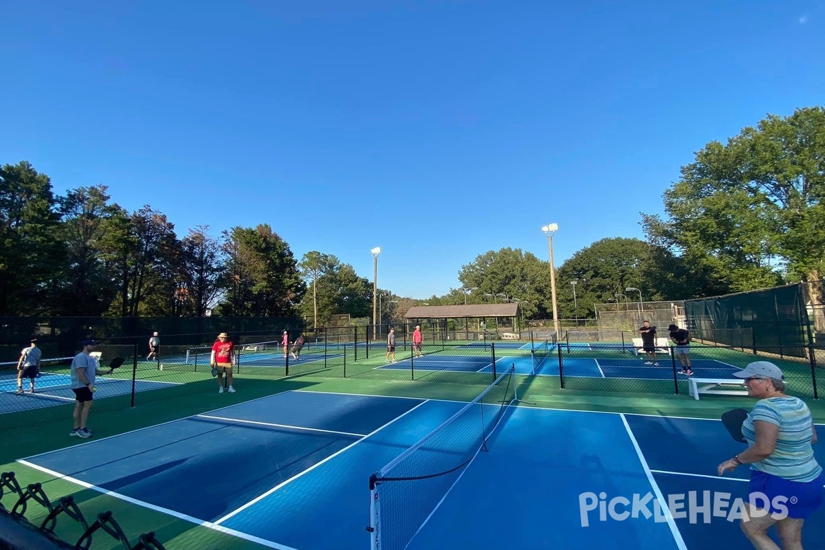
[(808, 519), (823, 504), (823, 482), (825, 474), (822, 473), (813, 482), (792, 482), (770, 473), (751, 470), (751, 484), (747, 492), (749, 501), (770, 514), (785, 515), (785, 507), (789, 518)]

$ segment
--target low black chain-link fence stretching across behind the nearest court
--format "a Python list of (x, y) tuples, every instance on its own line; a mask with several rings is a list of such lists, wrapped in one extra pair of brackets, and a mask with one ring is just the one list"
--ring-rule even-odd
[[(611, 341), (573, 341), (546, 331), (522, 335), (516, 340), (456, 339), (458, 336), (433, 324), (422, 327), (421, 346), (413, 346), (414, 327), (394, 325), (396, 346), (388, 353), (385, 336), (389, 327), (328, 327), (303, 331), (247, 331), (229, 333), (235, 359), (233, 387), (238, 392), (258, 384), (300, 377), (314, 379), (384, 380), (394, 382), (455, 383), (486, 386), (511, 364), (517, 375), (535, 375), (549, 380), (550, 388), (568, 391), (633, 394), (688, 395), (690, 378), (728, 380), (732, 373), (758, 358), (774, 361), (785, 372), (789, 391), (799, 397), (818, 398), (816, 353), (808, 342), (808, 358), (788, 356), (781, 346), (747, 346), (742, 336), (737, 345), (694, 341), (691, 361), (694, 374), (681, 374), (679, 355), (671, 346), (657, 351), (658, 365), (645, 364), (646, 357), (634, 346), (635, 332), (622, 333)], [(123, 360), (113, 374), (97, 378), (95, 411), (119, 411), (153, 402), (219, 392), (219, 382), (228, 391), (227, 376), (214, 376), (210, 364), (217, 334), (162, 335), (158, 354), (149, 355), (148, 339), (141, 337), (101, 339), (96, 347), (100, 369), (108, 371), (115, 358)], [(283, 345), (286, 336), (287, 345)], [(295, 347), (298, 336), (304, 344)], [(526, 336), (526, 337), (525, 337)], [(575, 336), (575, 335), (574, 335)], [(741, 336), (741, 335), (740, 335)], [(172, 345), (165, 342), (173, 341)], [(59, 349), (80, 351), (78, 341), (60, 341)], [(22, 346), (21, 346), (22, 347)], [(55, 418), (71, 418), (74, 394), (71, 389), (71, 357), (44, 356), (40, 374), (23, 378), (17, 391), (16, 362), (0, 364), (0, 431), (13, 425), (37, 424)], [(705, 383), (707, 386), (709, 383)], [(97, 412), (96, 412), (97, 414)]]

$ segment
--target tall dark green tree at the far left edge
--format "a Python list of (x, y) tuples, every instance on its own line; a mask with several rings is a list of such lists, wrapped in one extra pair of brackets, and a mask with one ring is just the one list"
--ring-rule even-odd
[(0, 167), (0, 315), (48, 313), (64, 269), (49, 176), (29, 162)]

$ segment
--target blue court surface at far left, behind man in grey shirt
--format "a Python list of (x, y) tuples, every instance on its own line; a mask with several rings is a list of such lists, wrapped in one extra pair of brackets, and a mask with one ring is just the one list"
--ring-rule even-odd
[[(115, 374), (98, 376), (95, 380), (95, 399), (128, 395), (132, 393), (131, 378), (115, 378)], [(130, 372), (126, 373), (127, 375)], [(41, 373), (35, 378), (35, 393), (29, 393), (29, 379), (23, 378), (24, 393), (16, 395), (16, 378), (0, 378), (0, 411), (22, 411), (74, 402), (71, 388), (72, 378), (68, 374)], [(135, 392), (145, 392), (158, 388), (171, 388), (177, 383), (136, 380)]]

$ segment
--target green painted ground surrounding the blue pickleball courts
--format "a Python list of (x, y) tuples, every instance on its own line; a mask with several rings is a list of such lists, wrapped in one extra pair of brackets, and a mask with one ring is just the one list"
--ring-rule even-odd
[[(526, 358), (530, 360), (529, 350), (520, 349), (512, 343), (506, 343), (496, 351), (496, 357)], [(454, 344), (455, 345), (455, 344)], [(521, 344), (520, 346), (523, 346)], [(673, 394), (673, 380), (670, 378), (648, 379), (641, 377), (610, 377), (592, 376), (589, 366), (582, 367), (579, 373), (573, 366), (577, 360), (596, 361), (610, 364), (610, 361), (634, 361), (629, 369), (638, 369), (641, 360), (632, 353), (622, 353), (621, 350), (594, 350), (572, 347), (569, 351), (563, 346), (563, 360), (568, 362), (573, 371), (566, 378), (566, 388), (559, 388), (558, 373), (549, 372), (547, 375), (516, 374), (516, 390), (521, 407), (535, 407), (544, 409), (559, 409), (569, 411), (604, 411), (625, 413), (629, 415), (685, 417), (690, 419), (719, 419), (724, 411), (732, 408), (752, 406), (750, 397), (708, 396), (695, 400), (688, 396), (687, 382), (678, 381), (680, 394)], [(69, 437), (71, 427), (71, 407), (68, 404), (59, 404), (49, 407), (48, 413), (41, 409), (17, 411), (2, 415), (3, 440), (6, 442), (0, 447), (0, 471), (15, 472), (21, 486), (31, 483), (41, 483), (44, 491), (52, 501), (60, 496), (73, 495), (81, 509), (87, 516), (111, 510), (113, 517), (133, 540), (138, 534), (153, 531), (166, 548), (288, 548), (273, 546), (266, 541), (257, 542), (254, 538), (240, 538), (229, 530), (216, 529), (210, 525), (199, 525), (169, 515), (163, 510), (155, 510), (145, 505), (138, 505), (122, 498), (115, 498), (95, 488), (78, 486), (77, 482), (67, 481), (41, 469), (31, 468), (17, 462), (21, 458), (32, 457), (49, 453), (56, 449), (67, 449), (73, 446), (87, 444), (93, 440), (101, 440), (118, 434), (125, 434), (134, 430), (163, 425), (178, 421), (190, 416), (203, 415), (222, 407), (230, 407), (254, 400), (274, 396), (285, 392), (300, 390), (317, 393), (335, 393), (356, 396), (391, 396), (410, 397), (422, 400), (469, 402), (479, 395), (488, 383), (493, 382), (492, 372), (484, 372), (489, 351), (474, 349), (467, 355), (477, 358), (469, 362), (458, 363), (464, 366), (455, 367), (457, 370), (447, 369), (436, 362), (418, 362), (417, 375), (412, 369), (394, 368), (384, 360), (383, 346), (370, 350), (370, 359), (365, 359), (365, 350), (359, 350), (361, 358), (357, 361), (348, 359), (347, 378), (342, 378), (342, 357), (328, 359), (327, 363), (317, 360), (306, 360), (290, 365), (289, 378), (284, 378), (285, 367), (275, 361), (265, 364), (242, 363), (241, 369), (234, 383), (237, 393), (217, 393), (214, 378), (208, 372), (198, 372), (194, 365), (177, 364), (165, 365), (163, 371), (158, 370), (151, 363), (139, 363), (136, 369), (141, 380), (163, 379), (172, 383), (169, 388), (162, 388), (145, 392), (147, 396), (136, 399), (136, 407), (130, 407), (130, 397), (126, 395), (110, 397), (107, 403), (101, 402), (100, 407), (92, 408), (89, 427), (94, 436), (91, 440), (79, 440)], [(408, 361), (409, 351), (398, 350), (398, 362)], [(455, 349), (439, 350), (433, 346), (428, 353), (427, 360), (437, 361), (440, 355), (455, 355)], [(404, 355), (406, 354), (406, 355)], [(311, 355), (307, 355), (310, 357)], [(694, 360), (714, 360), (725, 365), (742, 368), (754, 360), (753, 355), (737, 350), (720, 350), (719, 348), (700, 348), (696, 346), (692, 357)], [(261, 359), (261, 356), (258, 356)], [(666, 358), (670, 361), (670, 358)], [(825, 403), (821, 399), (814, 400), (809, 395), (809, 388), (802, 383), (805, 379), (810, 382), (810, 370), (806, 365), (790, 360), (772, 359), (785, 369), (790, 379), (790, 388), (799, 388), (799, 392), (792, 394), (804, 397), (813, 411), (815, 421), (825, 421)], [(551, 364), (556, 361), (556, 355), (549, 355)], [(414, 363), (413, 359), (413, 363)], [(511, 361), (510, 364), (515, 364)], [(436, 366), (432, 366), (432, 365)], [(620, 363), (617, 363), (620, 364)], [(469, 365), (469, 366), (466, 366)], [(502, 364), (497, 373), (502, 372), (509, 365)], [(171, 367), (171, 368), (170, 368)], [(604, 367), (601, 367), (604, 369)], [(624, 367), (615, 367), (620, 369)], [(725, 368), (728, 368), (727, 366)], [(458, 374), (456, 374), (458, 373)], [(579, 375), (577, 375), (579, 374)], [(808, 378), (805, 378), (805, 377)], [(193, 378), (196, 377), (196, 378)], [(796, 381), (799, 380), (799, 383)], [(795, 384), (795, 385), (794, 385)], [(595, 388), (595, 389), (594, 389)], [(651, 393), (643, 393), (650, 390)], [(153, 397), (148, 397), (153, 394)], [(138, 396), (141, 394), (139, 393)], [(96, 404), (97, 405), (97, 404)], [(32, 415), (45, 415), (38, 421), (31, 421)], [(144, 440), (147, 449), (153, 448), (151, 439)], [(224, 458), (214, 467), (211, 474), (216, 479), (231, 478), (238, 468), (244, 468), (243, 463), (233, 460), (232, 449), (227, 449)], [(359, 480), (366, 485), (367, 480)], [(273, 483), (275, 485), (275, 483)], [(12, 502), (2, 501), (10, 507)], [(364, 524), (367, 519), (367, 502), (364, 501), (362, 510), (355, 510), (355, 514), (362, 515)], [(45, 509), (31, 505), (26, 518), (38, 522), (45, 518)], [(264, 519), (265, 520), (265, 519)], [(330, 518), (334, 522), (334, 518)], [(62, 530), (61, 530), (62, 529)], [(65, 540), (76, 540), (82, 530), (71, 522), (60, 522), (57, 533)], [(364, 548), (367, 540), (364, 533)], [(122, 548), (112, 541), (106, 546), (101, 540), (93, 548)], [(291, 547), (290, 547), (291, 548)], [(301, 550), (301, 549), (299, 549)]]

